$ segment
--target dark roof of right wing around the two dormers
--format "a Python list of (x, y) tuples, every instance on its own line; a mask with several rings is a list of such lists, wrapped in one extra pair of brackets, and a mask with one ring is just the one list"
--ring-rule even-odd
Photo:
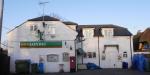
[(103, 36), (101, 29), (102, 28), (114, 28), (114, 36), (131, 36), (132, 34), (128, 31), (127, 28), (112, 25), (112, 24), (105, 24), (105, 25), (78, 25), (77, 32), (78, 36), (83, 37), (82, 30), (83, 28), (94, 28), (94, 36)]

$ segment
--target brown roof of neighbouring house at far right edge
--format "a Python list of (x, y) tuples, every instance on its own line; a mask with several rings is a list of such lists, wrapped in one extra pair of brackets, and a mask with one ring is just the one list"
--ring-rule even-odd
[(140, 37), (140, 42), (147, 41), (150, 43), (150, 28), (147, 28)]

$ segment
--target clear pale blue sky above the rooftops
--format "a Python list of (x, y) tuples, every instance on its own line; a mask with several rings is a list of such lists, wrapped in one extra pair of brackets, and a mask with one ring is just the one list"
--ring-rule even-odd
[(150, 0), (4, 0), (2, 41), (15, 26), (52, 13), (79, 25), (114, 24), (136, 34), (150, 27)]

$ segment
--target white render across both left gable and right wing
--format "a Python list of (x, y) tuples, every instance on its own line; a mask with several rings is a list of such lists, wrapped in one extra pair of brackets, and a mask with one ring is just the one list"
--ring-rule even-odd
[[(63, 53), (65, 52), (69, 53), (69, 57), (76, 57), (76, 64), (79, 65), (95, 63), (101, 68), (122, 68), (122, 62), (127, 62), (128, 67), (131, 67), (133, 36), (113, 36), (114, 28), (102, 28), (103, 36), (94, 36), (94, 28), (83, 28), (84, 37), (78, 37), (76, 25), (65, 25), (61, 21), (44, 22), (48, 27), (43, 27), (43, 21), (26, 21), (8, 32), (8, 55), (10, 56), (11, 72), (15, 72), (16, 60), (30, 59), (31, 63), (39, 63), (40, 57), (44, 59), (45, 73), (59, 72), (60, 64), (64, 64), (65, 72), (70, 72), (70, 61), (63, 61)], [(34, 25), (40, 31), (45, 32), (44, 41), (62, 41), (62, 48), (20, 48), (22, 41), (39, 41), (39, 38), (36, 37), (37, 33), (30, 29)], [(54, 27), (55, 31), (49, 31), (49, 26)], [(105, 31), (109, 31), (109, 34), (105, 34)], [(106, 45), (107, 47), (104, 47)], [(85, 58), (83, 55), (78, 55), (76, 52), (79, 48), (85, 53), (95, 52), (96, 57)], [(127, 52), (127, 58), (123, 57), (124, 52)], [(49, 54), (58, 55), (58, 62), (48, 62), (47, 55)], [(102, 59), (103, 56), (105, 56), (105, 60)]]

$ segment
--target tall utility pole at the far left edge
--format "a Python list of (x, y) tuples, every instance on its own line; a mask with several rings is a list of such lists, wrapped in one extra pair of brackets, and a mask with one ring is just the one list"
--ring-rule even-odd
[(1, 37), (2, 37), (3, 9), (4, 9), (4, 0), (0, 0), (0, 47), (1, 47)]

